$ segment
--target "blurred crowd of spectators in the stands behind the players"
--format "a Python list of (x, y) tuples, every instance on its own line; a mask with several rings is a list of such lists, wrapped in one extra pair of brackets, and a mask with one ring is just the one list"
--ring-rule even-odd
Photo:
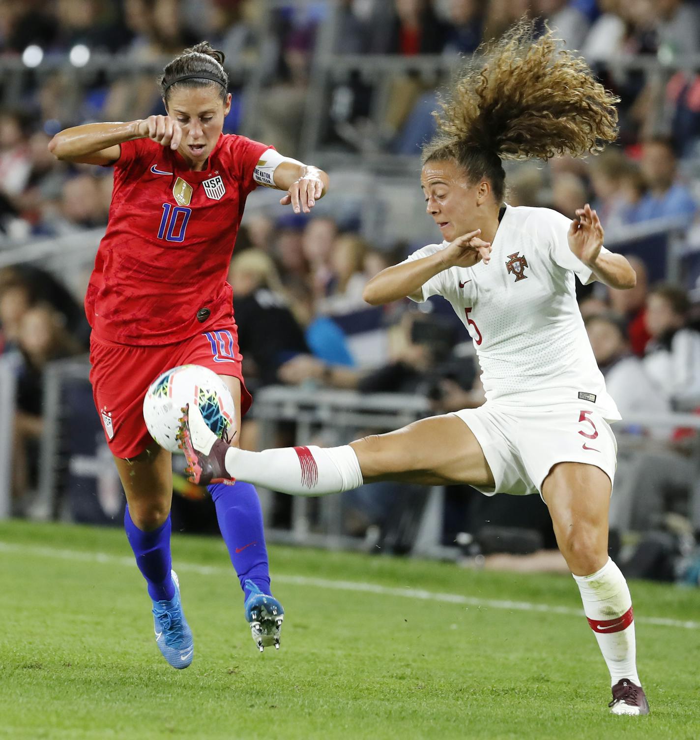
[[(354, 153), (360, 159), (378, 150), (418, 155), (432, 132), (435, 87), (448, 78), (458, 55), (471, 54), (484, 39), (500, 35), (523, 15), (531, 16), (540, 20), (540, 27), (546, 21), (557, 31), (565, 47), (580, 50), (606, 86), (620, 95), (621, 133), (619, 146), (588, 161), (557, 159), (510, 169), (508, 202), (547, 206), (569, 217), (582, 203), (593, 203), (608, 236), (621, 245), (613, 249), (631, 255), (637, 272), (636, 288), (630, 291), (599, 283), (577, 287), (611, 393), (623, 416), (697, 411), (700, 3), (340, 0), (336, 13), (336, 33), (330, 47), (323, 48), (322, 26), (331, 17), (324, 1), (0, 0), (0, 65), (18, 59), (24, 65), (0, 80), (0, 255), (3, 247), (78, 234), (106, 223), (111, 171), (55, 161), (47, 143), (70, 125), (162, 112), (154, 84), (157, 71), (188, 44), (207, 38), (227, 55), (234, 94), (228, 132), (274, 144), (285, 155), (308, 158), (317, 153), (309, 161), (324, 166), (324, 150)], [(78, 83), (66, 65), (54, 64), (46, 71), (41, 63), (34, 65), (27, 53), (32, 47), (41, 50), (45, 63), (70, 56), (76, 68), (81, 66), (75, 64), (81, 58), (76, 48), (95, 58), (113, 55), (109, 58), (116, 71), (98, 66)], [(327, 117), (319, 152), (300, 150), (313, 63), (326, 55), (332, 71), (332, 55), (367, 54), (441, 55), (449, 64), (431, 77), (413, 70), (407, 60), (384, 85), (386, 105), (377, 118), (372, 111), (377, 110), (381, 86), (362, 71), (358, 56), (357, 70), (330, 74), (323, 92), (327, 105), (324, 112), (314, 112)], [(636, 55), (651, 70), (662, 70), (653, 64), (670, 67), (656, 74), (641, 63), (620, 63)], [(694, 61), (673, 67), (674, 61), (688, 58)], [(10, 88), (18, 75), (17, 97)], [(251, 119), (242, 94), (250, 75), (263, 91), (255, 98), (259, 110), (252, 129), (245, 125)], [(330, 175), (333, 181), (332, 171)], [(370, 277), (424, 243), (370, 243), (361, 235), (361, 213), (335, 218), (331, 210), (320, 212), (299, 218), (254, 209), (245, 216), (229, 280), (251, 390), (285, 383), (363, 393), (398, 391), (424, 395), (435, 413), (483, 403), (472, 343), (446, 302), (431, 299), (418, 309), (408, 300), (380, 307), (362, 300)], [(626, 239), (630, 230), (664, 219), (667, 226), (659, 233), (650, 226), (639, 239)], [(676, 259), (685, 260), (682, 279), (675, 284), (665, 282), (671, 233), (674, 238), (682, 235)], [(41, 434), (44, 367), (86, 351), (89, 327), (81, 299), (38, 266), (0, 269), (0, 354), (15, 350), (21, 357), (18, 461)], [(629, 452), (627, 471), (624, 464), (620, 469), (620, 488), (627, 492), (619, 495), (613, 528), (650, 528), (665, 511), (659, 491), (664, 481), (671, 481), (672, 487), (686, 491), (684, 514), (693, 530), (700, 531), (697, 461), (694, 467), (689, 462), (693, 444), (697, 455), (697, 435), (643, 425), (625, 430), (631, 437), (653, 440), (658, 453), (653, 467), (662, 481), (655, 479), (653, 490), (645, 487), (632, 472), (639, 471), (639, 459)], [(253, 431), (246, 440), (244, 430), (244, 444), (256, 444)], [(32, 485), (33, 474), (27, 465), (16, 465), (18, 496)], [(633, 500), (644, 500), (643, 509), (632, 506)], [(372, 523), (387, 511), (375, 507), (370, 514), (366, 507), (362, 520)], [(639, 511), (644, 512), (641, 519)]]

